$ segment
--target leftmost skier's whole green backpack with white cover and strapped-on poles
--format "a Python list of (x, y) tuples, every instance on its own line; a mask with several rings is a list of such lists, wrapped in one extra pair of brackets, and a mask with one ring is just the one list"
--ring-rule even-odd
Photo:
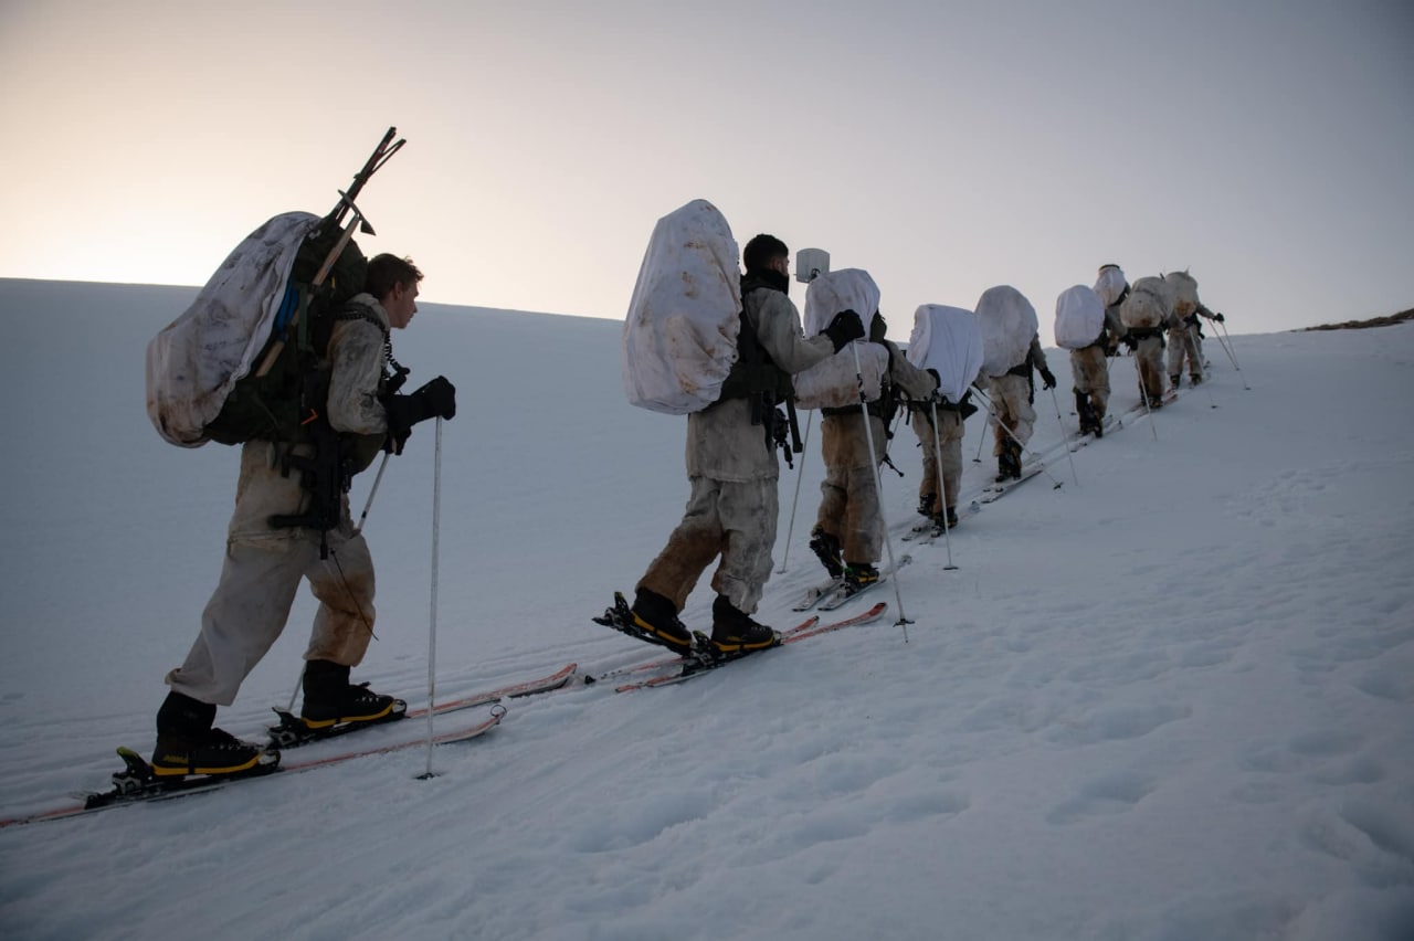
[(315, 321), (363, 290), (352, 235), (373, 229), (355, 199), (404, 144), (395, 134), (387, 129), (328, 215), (280, 213), (246, 236), (148, 343), (147, 415), (165, 441), (197, 448), (294, 434), (304, 374), (327, 339)]

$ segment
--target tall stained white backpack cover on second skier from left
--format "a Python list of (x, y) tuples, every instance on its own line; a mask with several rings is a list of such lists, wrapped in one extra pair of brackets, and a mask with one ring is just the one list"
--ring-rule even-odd
[(653, 226), (624, 319), (629, 404), (686, 415), (721, 396), (741, 332), (738, 254), (727, 219), (706, 199)]

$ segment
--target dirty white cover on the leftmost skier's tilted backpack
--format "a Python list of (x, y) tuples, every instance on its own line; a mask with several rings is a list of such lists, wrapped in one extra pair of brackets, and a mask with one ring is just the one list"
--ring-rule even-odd
[(287, 212), (252, 232), (147, 345), (147, 417), (164, 439), (206, 444), (204, 430), (270, 339), (294, 257), (318, 225), (315, 215)]

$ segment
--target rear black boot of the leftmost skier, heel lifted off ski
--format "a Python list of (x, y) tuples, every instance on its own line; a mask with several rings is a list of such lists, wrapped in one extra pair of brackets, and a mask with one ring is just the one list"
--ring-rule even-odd
[(236, 777), (271, 770), (280, 763), (279, 752), (242, 742), (229, 732), (212, 728), (216, 706), (177, 692), (167, 694), (157, 711), (157, 745), (151, 769), (158, 779), (188, 774)]

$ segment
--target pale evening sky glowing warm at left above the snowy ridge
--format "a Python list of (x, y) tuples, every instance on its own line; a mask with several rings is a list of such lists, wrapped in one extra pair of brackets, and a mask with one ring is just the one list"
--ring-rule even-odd
[(1106, 261), (1233, 332), (1377, 316), (1411, 48), (1408, 0), (0, 0), (0, 277), (202, 284), (396, 124), (361, 244), (427, 301), (621, 319), (706, 198), (868, 270), (898, 339), (1012, 284), (1049, 343)]

